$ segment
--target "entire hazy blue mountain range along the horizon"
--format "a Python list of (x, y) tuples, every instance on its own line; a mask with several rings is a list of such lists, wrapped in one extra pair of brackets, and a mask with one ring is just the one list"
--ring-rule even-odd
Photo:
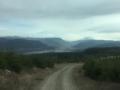
[(112, 40), (78, 40), (65, 41), (61, 38), (20, 38), (0, 37), (0, 51), (76, 51), (93, 47), (120, 47), (120, 41)]

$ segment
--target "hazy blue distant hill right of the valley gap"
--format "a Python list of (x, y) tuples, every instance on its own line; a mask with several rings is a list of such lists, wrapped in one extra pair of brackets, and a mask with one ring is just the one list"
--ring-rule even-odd
[(110, 40), (81, 40), (73, 46), (75, 49), (87, 49), (93, 47), (120, 47), (120, 41)]

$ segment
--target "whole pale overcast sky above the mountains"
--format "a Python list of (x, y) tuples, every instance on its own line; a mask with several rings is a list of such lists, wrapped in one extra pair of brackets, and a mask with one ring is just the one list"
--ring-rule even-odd
[(0, 0), (0, 36), (120, 40), (120, 0)]

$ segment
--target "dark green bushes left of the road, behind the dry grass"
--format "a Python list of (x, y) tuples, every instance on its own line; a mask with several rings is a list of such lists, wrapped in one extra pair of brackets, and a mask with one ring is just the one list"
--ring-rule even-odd
[(17, 55), (14, 53), (0, 53), (0, 69), (20, 73), (22, 70), (53, 67), (45, 57), (34, 55)]

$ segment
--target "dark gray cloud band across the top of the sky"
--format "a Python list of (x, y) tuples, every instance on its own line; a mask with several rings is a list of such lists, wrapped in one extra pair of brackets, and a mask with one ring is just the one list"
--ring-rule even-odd
[(82, 18), (119, 10), (119, 0), (0, 0), (0, 15), (6, 17)]

